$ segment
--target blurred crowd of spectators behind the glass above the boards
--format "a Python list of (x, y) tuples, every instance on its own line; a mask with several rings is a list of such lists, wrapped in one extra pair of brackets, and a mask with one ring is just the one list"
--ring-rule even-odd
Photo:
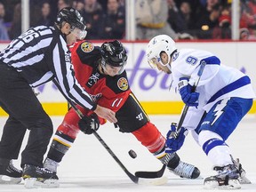
[[(231, 39), (232, 0), (134, 0), (136, 39)], [(73, 6), (87, 23), (86, 39), (125, 38), (125, 0), (30, 0), (30, 26), (52, 26)], [(240, 39), (256, 39), (256, 0), (240, 0)], [(20, 0), (0, 0), (0, 40), (21, 33)]]

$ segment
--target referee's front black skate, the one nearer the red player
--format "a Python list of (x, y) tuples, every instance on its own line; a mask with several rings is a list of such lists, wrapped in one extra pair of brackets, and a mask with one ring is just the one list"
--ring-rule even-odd
[(22, 178), (25, 180), (25, 188), (59, 187), (59, 178), (55, 172), (31, 164), (24, 165)]

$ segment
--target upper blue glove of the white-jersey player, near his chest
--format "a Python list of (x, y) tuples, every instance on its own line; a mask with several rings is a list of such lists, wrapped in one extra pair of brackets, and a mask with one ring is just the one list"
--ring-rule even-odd
[(187, 77), (181, 77), (178, 84), (180, 90), (180, 96), (183, 102), (188, 106), (198, 106), (196, 102), (199, 98), (199, 92), (192, 92), (192, 86), (188, 84)]

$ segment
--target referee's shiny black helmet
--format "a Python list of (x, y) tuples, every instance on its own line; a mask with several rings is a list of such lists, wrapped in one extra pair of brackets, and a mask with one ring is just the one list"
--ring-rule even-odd
[(56, 24), (61, 27), (63, 21), (68, 22), (71, 25), (71, 28), (79, 28), (80, 30), (86, 28), (84, 18), (72, 7), (65, 7), (58, 13)]

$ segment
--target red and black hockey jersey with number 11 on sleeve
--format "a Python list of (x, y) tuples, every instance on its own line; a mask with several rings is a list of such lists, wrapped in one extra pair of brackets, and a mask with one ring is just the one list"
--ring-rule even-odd
[(118, 76), (100, 74), (100, 47), (91, 42), (77, 42), (70, 47), (70, 51), (79, 84), (100, 106), (118, 111), (131, 92), (126, 71)]

